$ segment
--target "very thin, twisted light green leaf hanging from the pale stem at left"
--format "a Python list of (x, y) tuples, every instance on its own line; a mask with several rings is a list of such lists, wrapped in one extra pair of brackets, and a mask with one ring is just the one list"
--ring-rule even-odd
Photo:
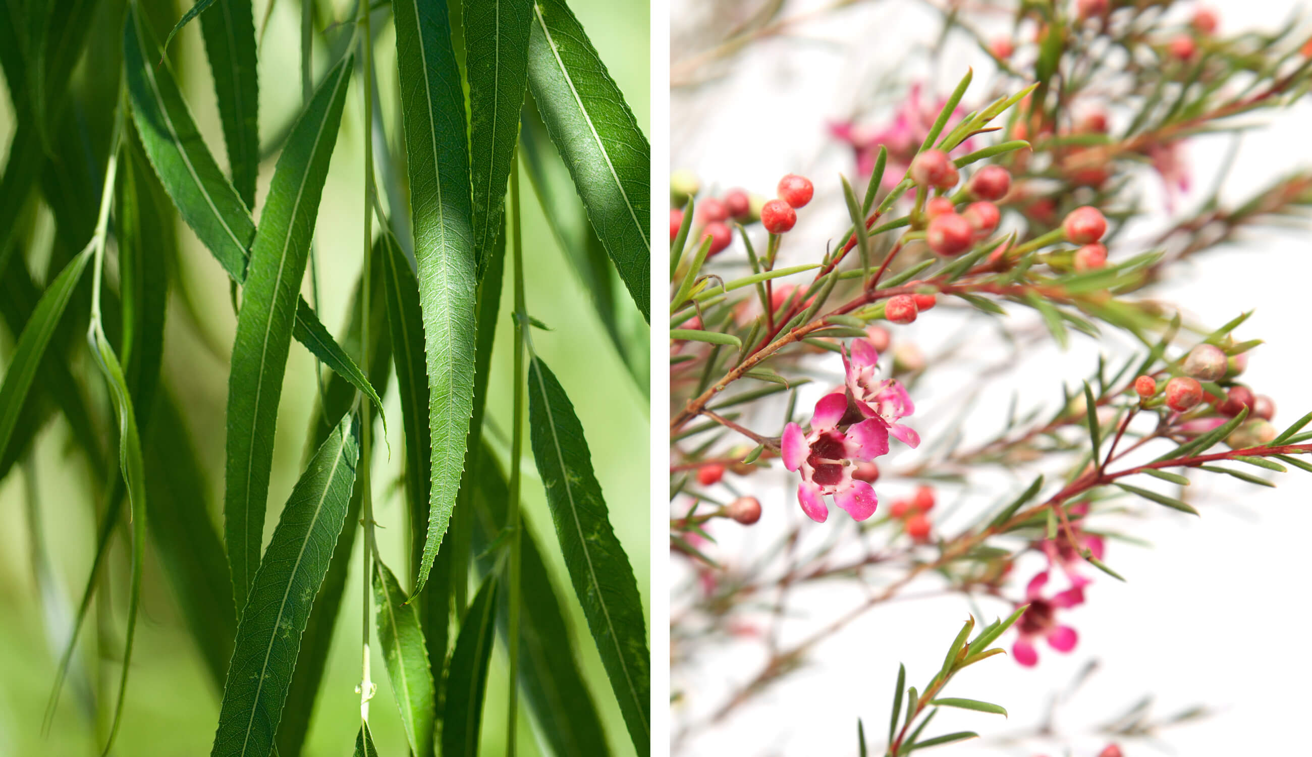
[(96, 350), (96, 361), (109, 383), (109, 395), (118, 415), (119, 470), (127, 484), (127, 499), (133, 513), (133, 579), (127, 598), (127, 632), (123, 636), (123, 672), (118, 678), (118, 705), (114, 706), (114, 720), (104, 750), (105, 754), (109, 754), (123, 716), (127, 672), (131, 669), (133, 640), (136, 635), (136, 609), (142, 601), (142, 563), (146, 555), (146, 474), (142, 462), (142, 440), (136, 430), (136, 415), (133, 412), (133, 396), (123, 380), (123, 369), (102, 329), (93, 328), (89, 337)]

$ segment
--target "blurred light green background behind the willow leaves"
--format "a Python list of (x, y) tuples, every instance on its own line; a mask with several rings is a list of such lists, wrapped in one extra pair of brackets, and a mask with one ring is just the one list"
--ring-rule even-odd
[[(270, 0), (273, 1), (273, 0)], [(122, 3), (104, 5), (121, 9)], [(333, 3), (333, 18), (350, 16), (350, 5)], [(646, 0), (571, 0), (571, 8), (583, 22), (593, 45), (625, 92), (638, 123), (649, 134), (649, 8)], [(266, 1), (256, 0), (258, 28)], [(178, 8), (181, 14), (181, 8)], [(105, 14), (110, 16), (109, 12)], [(121, 18), (121, 16), (114, 16)], [(375, 14), (375, 18), (379, 18)], [(260, 129), (261, 142), (277, 134), (279, 126), (294, 115), (300, 102), (298, 4), (283, 0), (273, 8), (268, 31), (260, 49)], [(375, 22), (377, 25), (377, 22)], [(93, 35), (118, 34), (112, 24), (93, 28)], [(379, 72), (379, 96), (388, 138), (395, 147), (395, 37), (390, 20), (375, 46)], [(315, 50), (315, 68), (321, 72), (331, 63), (325, 50)], [(185, 97), (195, 114), (211, 152), (226, 165), (223, 135), (214, 100), (214, 87), (199, 25), (189, 25), (173, 42), (169, 56), (185, 79)], [(88, 62), (84, 59), (81, 66)], [(13, 133), (13, 113), (8, 93), (0, 98), (0, 144), (8, 152)], [(362, 104), (358, 85), (349, 93), (337, 148), (333, 153), (328, 184), (319, 210), (315, 244), (319, 255), (320, 315), (325, 325), (341, 335), (350, 291), (359, 274), (361, 260), (361, 185), (363, 169)], [(257, 206), (268, 192), (274, 160), (261, 167)], [(610, 520), (628, 552), (643, 605), (649, 607), (649, 539), (648, 539), (648, 401), (617, 357), (605, 329), (590, 304), (590, 295), (575, 276), (559, 249), (542, 209), (533, 195), (527, 176), (521, 173), (523, 193), (523, 239), (527, 306), (530, 314), (554, 331), (535, 332), (534, 346), (558, 374), (588, 434), (593, 464), (610, 506)], [(49, 237), (49, 214), (42, 214), (38, 230)], [(195, 240), (185, 224), (177, 222), (181, 243), (180, 277), (186, 282), (198, 311), (203, 332), (222, 354), (231, 349), (236, 319), (230, 304), (227, 277)], [(38, 237), (41, 237), (38, 231)], [(49, 252), (42, 245), (28, 251), (29, 266), (38, 281), (49, 281)], [(308, 287), (307, 287), (308, 295)], [(499, 451), (502, 466), (509, 450), (512, 403), (510, 359), (512, 331), (510, 268), (502, 290), (502, 310), (497, 325), (485, 438)], [(178, 290), (169, 303), (165, 336), (164, 386), (178, 399), (193, 443), (206, 467), (207, 493), (215, 525), (222, 523), (223, 440), (227, 392), (227, 362), (207, 350), (197, 328), (182, 314)], [(627, 297), (625, 298), (627, 303)], [(631, 303), (628, 303), (631, 306)], [(628, 307), (626, 333), (638, 352), (646, 353), (647, 327)], [(14, 335), (0, 328), (0, 365), (7, 365), (13, 350)], [(84, 350), (83, 350), (84, 352)], [(93, 367), (83, 354), (72, 366), (83, 377)], [(299, 345), (291, 349), (287, 378), (283, 384), (274, 451), (273, 481), (269, 491), (269, 516), (265, 539), (277, 523), (282, 502), (300, 474), (306, 429), (315, 404), (314, 359)], [(98, 379), (85, 382), (96, 394), (97, 407), (108, 401)], [(392, 382), (395, 386), (395, 382)], [(395, 391), (386, 398), (388, 419), (400, 417)], [(113, 429), (104, 429), (106, 434)], [(379, 437), (382, 428), (375, 432)], [(377, 445), (374, 459), (374, 501), (384, 562), (399, 572), (405, 565), (401, 544), (407, 538), (404, 505), (398, 488), (401, 463), (401, 424), (390, 424), (391, 459), (387, 447)], [(106, 437), (108, 440), (108, 437)], [(110, 558), (110, 592), (101, 594), (97, 609), (88, 618), (79, 649), (79, 661), (96, 689), (98, 714), (80, 705), (76, 682), (66, 686), (52, 727), (41, 733), (42, 714), (50, 694), (59, 656), (59, 647), (68, 627), (71, 607), (77, 602), (94, 552), (93, 497), (102, 496), (92, 485), (81, 457), (72, 451), (68, 426), (58, 419), (49, 424), (35, 445), (34, 481), (18, 467), (0, 483), (0, 756), (28, 754), (98, 754), (112, 711), (119, 661), (96, 660), (97, 632), (105, 634), (104, 648), (114, 655), (122, 640), (127, 594), (126, 531), (121, 530)], [(568, 575), (555, 546), (550, 513), (531, 457), (525, 458), (525, 514), (551, 559), (554, 579), (565, 598), (572, 622), (575, 649), (583, 661), (592, 694), (605, 719), (611, 749), (632, 754), (619, 708), (614, 702), (605, 670), (588, 634), (586, 622), (569, 589)], [(33, 485), (34, 484), (34, 485)], [(29, 497), (35, 491), (39, 504), (39, 529), (33, 534)], [(33, 569), (33, 538), (42, 539), (54, 567), (55, 585), (38, 590)], [(349, 754), (358, 729), (361, 577), (359, 539), (352, 558), (352, 577), (342, 598), (341, 617), (333, 639), (333, 652), (316, 703), (307, 754)], [(407, 581), (408, 584), (408, 581)], [(109, 602), (106, 602), (109, 600)], [(649, 613), (648, 613), (649, 617)], [(147, 551), (143, 581), (140, 624), (133, 656), (131, 680), (125, 705), (122, 731), (114, 752), (118, 754), (195, 756), (210, 749), (218, 722), (219, 693), (207, 680), (201, 657), (178, 614), (174, 596), (161, 575), (159, 562)], [(488, 684), (488, 702), (483, 719), (483, 754), (504, 752), (506, 669), (505, 651), (493, 655)], [(400, 719), (392, 703), (382, 659), (374, 645), (374, 698), (370, 723), (379, 753), (404, 754)], [(521, 699), (522, 703), (522, 699)], [(522, 754), (541, 753), (527, 715), (521, 716), (520, 749)], [(550, 727), (550, 724), (541, 724)]]

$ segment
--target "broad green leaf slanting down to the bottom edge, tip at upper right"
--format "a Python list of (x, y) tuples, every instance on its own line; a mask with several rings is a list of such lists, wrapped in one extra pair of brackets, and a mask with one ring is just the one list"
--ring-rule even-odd
[(359, 458), (346, 416), (297, 481), (237, 624), (211, 757), (269, 754), (315, 593), (328, 572)]

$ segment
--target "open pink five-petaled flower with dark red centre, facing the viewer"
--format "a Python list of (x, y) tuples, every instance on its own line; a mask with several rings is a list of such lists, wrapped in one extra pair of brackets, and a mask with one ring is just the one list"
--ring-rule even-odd
[(783, 429), (783, 466), (790, 471), (802, 471), (798, 502), (802, 512), (817, 523), (829, 517), (824, 501), (829, 495), (857, 521), (872, 516), (879, 505), (875, 489), (851, 476), (855, 467), (851, 463), (888, 454), (888, 429), (875, 419), (841, 429), (838, 422), (845, 415), (848, 395), (828, 394), (816, 403), (810, 433), (804, 433), (798, 424)]

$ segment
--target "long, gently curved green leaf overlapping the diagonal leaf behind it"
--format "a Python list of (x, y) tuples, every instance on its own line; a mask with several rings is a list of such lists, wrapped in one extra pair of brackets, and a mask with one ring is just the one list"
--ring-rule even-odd
[(228, 374), (223, 520), (236, 606), (260, 564), (273, 466), (278, 400), (286, 373), (298, 290), (304, 278), (319, 198), (350, 83), (352, 59), (337, 64), (291, 130), (260, 216), (241, 293)]

